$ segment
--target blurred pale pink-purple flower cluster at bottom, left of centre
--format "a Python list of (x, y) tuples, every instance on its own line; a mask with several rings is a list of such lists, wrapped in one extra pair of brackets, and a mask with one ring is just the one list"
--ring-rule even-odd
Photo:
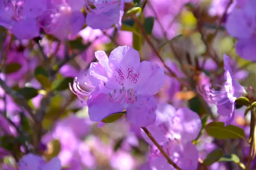
[(50, 145), (53, 139), (59, 140), (61, 151), (58, 158), (62, 166), (72, 170), (83, 166), (93, 167), (95, 163), (90, 148), (81, 141), (89, 133), (91, 123), (89, 119), (68, 116), (56, 123), (53, 131), (42, 138), (42, 143)]

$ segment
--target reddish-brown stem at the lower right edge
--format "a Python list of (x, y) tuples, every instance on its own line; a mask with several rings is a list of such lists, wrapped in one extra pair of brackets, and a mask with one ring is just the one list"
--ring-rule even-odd
[(255, 145), (255, 141), (254, 141), (255, 123), (256, 123), (255, 109), (253, 108), (253, 109), (251, 109), (251, 122), (250, 122), (250, 139), (251, 139), (250, 140), (250, 153), (249, 153), (249, 158), (248, 158), (245, 170), (250, 169), (251, 161), (255, 157), (255, 150), (253, 153), (253, 148)]

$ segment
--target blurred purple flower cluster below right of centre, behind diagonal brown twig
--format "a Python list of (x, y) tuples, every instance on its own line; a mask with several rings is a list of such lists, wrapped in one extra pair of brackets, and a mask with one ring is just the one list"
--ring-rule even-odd
[[(148, 126), (148, 130), (182, 170), (196, 170), (199, 156), (192, 140), (197, 138), (201, 127), (200, 117), (189, 108), (175, 111), (172, 105), (165, 105), (161, 111), (158, 110), (157, 120)], [(151, 167), (175, 170), (144, 132), (142, 136), (152, 146), (149, 155)]]

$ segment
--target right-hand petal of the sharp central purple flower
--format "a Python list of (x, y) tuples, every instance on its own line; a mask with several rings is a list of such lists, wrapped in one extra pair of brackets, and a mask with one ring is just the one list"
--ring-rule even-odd
[(138, 79), (134, 88), (138, 94), (152, 96), (160, 91), (165, 82), (162, 68), (154, 62), (143, 61), (140, 63), (138, 74), (143, 75)]

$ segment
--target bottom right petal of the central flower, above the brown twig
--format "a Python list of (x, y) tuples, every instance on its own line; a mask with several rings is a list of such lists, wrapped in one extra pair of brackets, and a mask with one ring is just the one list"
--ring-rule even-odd
[(156, 120), (157, 102), (154, 97), (137, 96), (137, 101), (128, 106), (127, 119), (134, 125), (146, 127)]

